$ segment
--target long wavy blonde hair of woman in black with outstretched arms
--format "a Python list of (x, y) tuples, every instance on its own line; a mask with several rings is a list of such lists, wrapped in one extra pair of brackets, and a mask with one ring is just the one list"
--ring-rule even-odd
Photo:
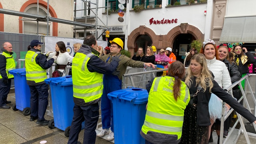
[[(212, 77), (212, 73), (209, 71), (207, 67), (206, 58), (204, 54), (196, 54), (191, 58), (191, 61), (192, 60), (196, 60), (196, 62), (198, 62), (202, 66), (201, 75), (196, 78), (196, 85), (200, 84), (204, 89), (204, 92), (206, 91), (206, 88), (209, 87), (209, 91), (211, 92), (213, 88), (213, 82), (212, 82), (213, 77)], [(188, 88), (191, 87), (191, 82), (193, 77), (194, 75), (189, 66), (186, 71), (186, 79), (185, 79), (185, 83), (188, 86)]]

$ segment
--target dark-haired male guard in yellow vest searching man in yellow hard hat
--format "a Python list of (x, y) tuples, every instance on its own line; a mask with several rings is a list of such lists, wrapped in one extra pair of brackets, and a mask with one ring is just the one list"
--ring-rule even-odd
[(74, 116), (69, 132), (68, 144), (76, 144), (81, 124), (84, 125), (83, 144), (96, 141), (99, 120), (99, 101), (103, 92), (103, 74), (113, 73), (120, 59), (113, 57), (110, 64), (99, 58), (97, 41), (93, 35), (84, 39), (84, 44), (76, 53), (72, 63)]

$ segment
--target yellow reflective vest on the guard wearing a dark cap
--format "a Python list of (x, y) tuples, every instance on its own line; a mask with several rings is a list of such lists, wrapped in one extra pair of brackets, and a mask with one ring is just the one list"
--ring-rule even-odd
[(36, 63), (36, 56), (40, 53), (29, 50), (25, 56), (26, 78), (35, 83), (42, 82), (47, 78), (46, 70)]

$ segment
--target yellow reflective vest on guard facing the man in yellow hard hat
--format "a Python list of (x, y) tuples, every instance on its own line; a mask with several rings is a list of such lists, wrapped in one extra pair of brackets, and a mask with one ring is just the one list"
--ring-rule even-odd
[[(73, 99), (79, 106), (97, 103), (103, 93), (103, 74), (90, 72), (87, 63), (93, 53), (76, 53), (72, 62)], [(97, 55), (96, 55), (97, 56)]]

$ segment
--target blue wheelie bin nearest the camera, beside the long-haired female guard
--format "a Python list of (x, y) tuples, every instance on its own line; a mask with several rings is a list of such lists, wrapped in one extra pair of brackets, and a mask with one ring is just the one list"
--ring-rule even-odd
[(113, 104), (114, 134), (117, 144), (145, 144), (140, 135), (145, 120), (148, 92), (127, 88), (108, 94)]

